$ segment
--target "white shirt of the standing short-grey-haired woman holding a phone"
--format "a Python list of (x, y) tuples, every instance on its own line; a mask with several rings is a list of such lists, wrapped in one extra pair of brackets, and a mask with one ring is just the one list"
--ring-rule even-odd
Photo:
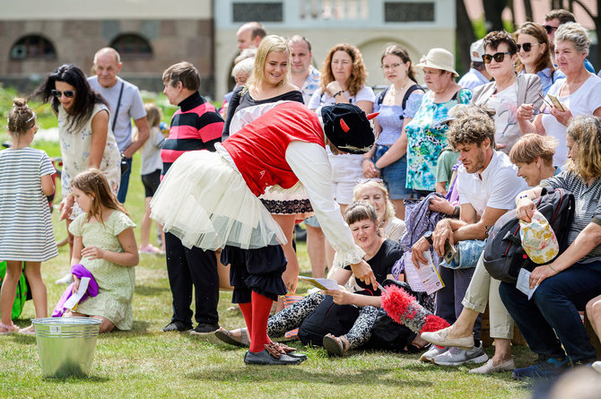
[[(572, 117), (593, 115), (595, 109), (601, 107), (601, 78), (591, 74), (587, 81), (580, 85), (577, 91), (568, 96), (559, 97), (559, 92), (562, 91), (565, 82), (564, 79), (554, 82), (548, 93), (553, 94), (553, 96), (560, 100), (563, 106), (569, 108)], [(542, 121), (545, 134), (555, 137), (558, 141), (555, 155), (553, 156), (553, 164), (563, 166), (566, 160), (568, 160), (568, 144), (566, 143), (567, 126), (563, 126), (550, 114), (544, 114)]]

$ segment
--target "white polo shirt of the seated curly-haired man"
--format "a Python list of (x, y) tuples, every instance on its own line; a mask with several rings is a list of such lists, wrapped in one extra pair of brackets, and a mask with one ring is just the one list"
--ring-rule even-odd
[(457, 170), (457, 190), (460, 204), (471, 204), (478, 216), (486, 207), (515, 208), (516, 195), (526, 190), (526, 180), (518, 178), (518, 167), (505, 153), (495, 151), (482, 173), (467, 173), (461, 165)]

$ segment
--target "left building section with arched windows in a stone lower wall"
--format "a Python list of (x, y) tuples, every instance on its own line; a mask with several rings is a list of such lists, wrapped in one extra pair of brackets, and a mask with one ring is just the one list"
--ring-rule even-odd
[(213, 91), (211, 0), (19, 0), (2, 2), (0, 82), (30, 91), (58, 65), (91, 72), (97, 49), (118, 48), (120, 76), (161, 90), (162, 71), (186, 60)]

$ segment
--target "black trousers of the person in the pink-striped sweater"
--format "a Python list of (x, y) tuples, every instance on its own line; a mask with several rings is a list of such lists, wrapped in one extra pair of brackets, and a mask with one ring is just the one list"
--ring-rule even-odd
[(165, 233), (167, 273), (171, 295), (173, 296), (173, 317), (192, 325), (192, 286), (195, 289), (196, 323), (217, 324), (217, 303), (219, 302), (219, 273), (214, 251), (204, 251), (198, 247), (188, 249), (170, 233)]

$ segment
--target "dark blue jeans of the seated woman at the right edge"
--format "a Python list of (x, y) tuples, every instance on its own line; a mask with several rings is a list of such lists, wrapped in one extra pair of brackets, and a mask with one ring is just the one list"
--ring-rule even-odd
[(571, 361), (596, 358), (578, 311), (599, 292), (601, 262), (571, 265), (541, 282), (530, 300), (513, 284), (501, 282), (499, 287), (501, 300), (530, 350), (561, 358), (563, 345)]

